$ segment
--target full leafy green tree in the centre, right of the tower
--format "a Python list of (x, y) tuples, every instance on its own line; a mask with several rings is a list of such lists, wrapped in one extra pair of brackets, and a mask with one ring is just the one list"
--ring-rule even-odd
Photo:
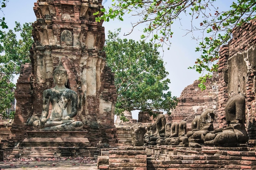
[(103, 48), (107, 66), (115, 73), (115, 114), (124, 119), (124, 110), (151, 114), (153, 110), (165, 110), (169, 113), (170, 108), (175, 108), (177, 99), (168, 91), (168, 72), (157, 48), (145, 41), (122, 40), (119, 33), (120, 29), (114, 33), (109, 31)]

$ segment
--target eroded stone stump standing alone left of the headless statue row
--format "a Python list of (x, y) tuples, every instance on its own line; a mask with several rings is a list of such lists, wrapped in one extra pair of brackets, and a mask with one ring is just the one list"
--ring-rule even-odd
[(146, 128), (144, 126), (132, 126), (130, 128), (132, 137), (132, 146), (143, 146), (144, 135), (146, 134)]

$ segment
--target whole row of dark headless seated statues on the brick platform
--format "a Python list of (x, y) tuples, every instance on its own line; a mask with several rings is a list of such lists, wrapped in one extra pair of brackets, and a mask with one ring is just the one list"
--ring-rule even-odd
[(215, 110), (206, 109), (191, 123), (186, 132), (186, 121), (166, 123), (163, 114), (157, 115), (155, 123), (148, 125), (144, 135), (145, 145), (177, 145), (200, 148), (201, 146), (237, 147), (248, 141), (245, 129), (245, 97), (231, 95), (225, 106), (227, 127), (213, 129)]

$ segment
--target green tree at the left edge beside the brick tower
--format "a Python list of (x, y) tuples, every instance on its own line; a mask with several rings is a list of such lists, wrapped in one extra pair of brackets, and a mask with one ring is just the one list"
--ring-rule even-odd
[[(10, 108), (14, 99), (12, 89), (15, 88), (15, 84), (11, 83), (13, 74), (20, 73), (21, 64), (30, 62), (29, 49), (34, 42), (32, 29), (31, 23), (21, 26), (16, 22), (14, 31), (2, 32), (0, 39), (0, 113), (3, 117), (8, 117), (5, 112), (7, 108)], [(20, 33), (21, 40), (17, 40), (16, 33)]]

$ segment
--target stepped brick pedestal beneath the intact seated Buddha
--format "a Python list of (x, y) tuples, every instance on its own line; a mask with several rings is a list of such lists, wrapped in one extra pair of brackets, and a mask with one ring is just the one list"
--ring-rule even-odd
[(28, 130), (28, 137), (13, 149), (8, 159), (90, 157), (94, 155), (90, 152), (97, 150), (97, 147), (91, 147), (87, 133), (87, 130)]

